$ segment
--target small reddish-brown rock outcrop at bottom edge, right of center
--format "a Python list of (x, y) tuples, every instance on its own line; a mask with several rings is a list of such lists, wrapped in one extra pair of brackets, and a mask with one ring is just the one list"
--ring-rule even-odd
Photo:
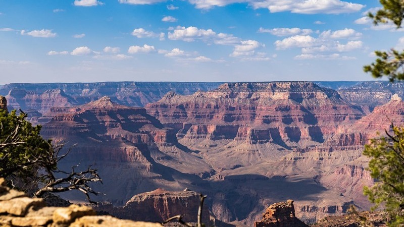
[(270, 205), (261, 221), (254, 222), (254, 227), (308, 227), (294, 215), (293, 200)]

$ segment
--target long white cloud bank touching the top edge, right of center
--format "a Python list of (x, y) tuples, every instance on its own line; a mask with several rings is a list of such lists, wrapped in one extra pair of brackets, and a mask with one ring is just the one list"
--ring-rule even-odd
[(233, 3), (248, 3), (255, 9), (266, 8), (270, 12), (290, 11), (300, 14), (341, 14), (358, 12), (364, 5), (340, 0), (189, 0), (198, 9), (223, 7)]

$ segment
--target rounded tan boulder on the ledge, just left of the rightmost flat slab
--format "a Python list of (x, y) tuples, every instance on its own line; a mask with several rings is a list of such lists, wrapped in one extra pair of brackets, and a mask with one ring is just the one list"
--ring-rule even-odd
[(93, 209), (86, 206), (70, 205), (69, 207), (58, 208), (53, 213), (53, 226), (68, 226), (76, 218), (95, 214)]

